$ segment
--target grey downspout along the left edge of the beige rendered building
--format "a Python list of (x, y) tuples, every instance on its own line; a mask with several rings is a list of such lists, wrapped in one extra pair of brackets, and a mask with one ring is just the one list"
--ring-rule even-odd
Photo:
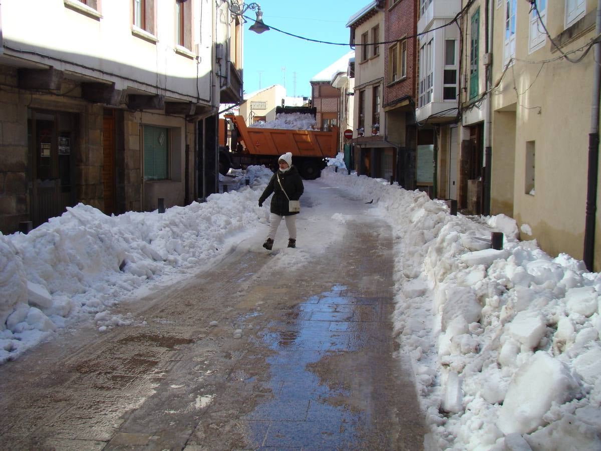
[(484, 43), (484, 53), (486, 54), (484, 64), (486, 67), (486, 99), (484, 100), (486, 118), (484, 118), (484, 195), (482, 213), (484, 216), (490, 215), (490, 188), (492, 186), (492, 102), (490, 99), (490, 80), (492, 79), (492, 48), (493, 40), (493, 14), (495, 8), (490, 4), (493, 0), (487, 0), (485, 8), (484, 20), (486, 21), (486, 41)]

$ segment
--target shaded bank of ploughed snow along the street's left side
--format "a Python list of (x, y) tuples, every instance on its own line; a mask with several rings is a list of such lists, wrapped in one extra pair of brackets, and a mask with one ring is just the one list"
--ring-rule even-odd
[(0, 363), (78, 319), (93, 316), (101, 331), (133, 324), (108, 308), (149, 280), (197, 269), (228, 236), (257, 227), (272, 172), (249, 167), (246, 176), (251, 186), (162, 214), (106, 216), (78, 204), (28, 235), (0, 235)]

